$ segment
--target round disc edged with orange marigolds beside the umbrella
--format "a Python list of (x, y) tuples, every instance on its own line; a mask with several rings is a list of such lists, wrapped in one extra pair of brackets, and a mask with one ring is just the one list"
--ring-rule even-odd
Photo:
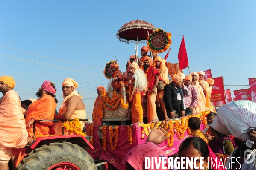
[(162, 53), (171, 45), (171, 33), (159, 28), (147, 37), (147, 41), (147, 46), (152, 52)]

